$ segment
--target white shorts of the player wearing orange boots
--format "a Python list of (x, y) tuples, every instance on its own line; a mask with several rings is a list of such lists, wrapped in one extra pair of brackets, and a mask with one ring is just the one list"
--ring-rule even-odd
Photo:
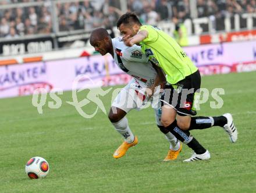
[[(111, 106), (120, 108), (126, 113), (133, 109), (141, 110), (152, 106), (152, 100), (148, 100), (145, 97), (144, 93), (146, 88), (147, 86), (144, 83), (131, 79), (131, 81), (120, 90)], [(160, 121), (162, 114), (161, 101), (157, 100), (157, 104), (154, 104), (152, 108), (155, 111), (155, 121), (157, 125), (162, 125)], [(112, 108), (112, 110), (114, 111), (115, 109)]]

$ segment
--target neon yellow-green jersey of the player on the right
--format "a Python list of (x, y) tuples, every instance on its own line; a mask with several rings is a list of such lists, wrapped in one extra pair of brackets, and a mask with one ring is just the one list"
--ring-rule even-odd
[(163, 69), (167, 82), (175, 84), (197, 71), (175, 39), (153, 26), (144, 25), (140, 30), (148, 32), (148, 37), (140, 42), (141, 50)]

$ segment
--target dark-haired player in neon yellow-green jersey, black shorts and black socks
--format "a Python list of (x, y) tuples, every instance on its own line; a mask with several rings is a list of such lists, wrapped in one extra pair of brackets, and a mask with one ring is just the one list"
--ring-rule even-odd
[(140, 45), (150, 60), (165, 72), (167, 82), (161, 97), (161, 122), (165, 129), (194, 150), (185, 162), (210, 158), (209, 151), (191, 136), (190, 130), (221, 126), (232, 143), (237, 140), (237, 129), (231, 114), (194, 116), (197, 114), (194, 105), (200, 91), (201, 76), (175, 39), (158, 28), (142, 25), (134, 13), (123, 14), (117, 27), (124, 35), (123, 41), (127, 46)]

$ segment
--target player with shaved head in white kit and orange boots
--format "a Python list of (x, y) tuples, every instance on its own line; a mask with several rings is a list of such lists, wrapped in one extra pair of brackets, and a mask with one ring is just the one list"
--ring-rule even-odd
[[(120, 147), (114, 152), (114, 158), (121, 158), (127, 150), (138, 143), (137, 136), (129, 128), (126, 114), (133, 109), (143, 108), (144, 105), (151, 101), (145, 94), (147, 88), (154, 90), (164, 77), (161, 70), (154, 66), (148, 58), (141, 52), (140, 46), (126, 46), (122, 38), (113, 38), (109, 36), (104, 28), (97, 28), (91, 32), (90, 43), (95, 51), (102, 56), (110, 53), (116, 64), (131, 75), (133, 79), (123, 88), (112, 103), (108, 118), (116, 131), (119, 132), (125, 140)], [(155, 100), (154, 100), (155, 101)], [(170, 143), (168, 155), (164, 161), (170, 161), (177, 158), (182, 150), (182, 144), (173, 136), (169, 130), (165, 130), (160, 121), (161, 103), (157, 99), (157, 104), (152, 105), (155, 111), (155, 120), (158, 128)]]

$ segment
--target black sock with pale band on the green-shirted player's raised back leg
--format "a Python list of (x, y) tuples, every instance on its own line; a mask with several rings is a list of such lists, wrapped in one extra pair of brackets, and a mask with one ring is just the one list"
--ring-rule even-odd
[(214, 120), (212, 118), (209, 118), (209, 116), (191, 117), (189, 130), (211, 128), (212, 122), (214, 122)]

